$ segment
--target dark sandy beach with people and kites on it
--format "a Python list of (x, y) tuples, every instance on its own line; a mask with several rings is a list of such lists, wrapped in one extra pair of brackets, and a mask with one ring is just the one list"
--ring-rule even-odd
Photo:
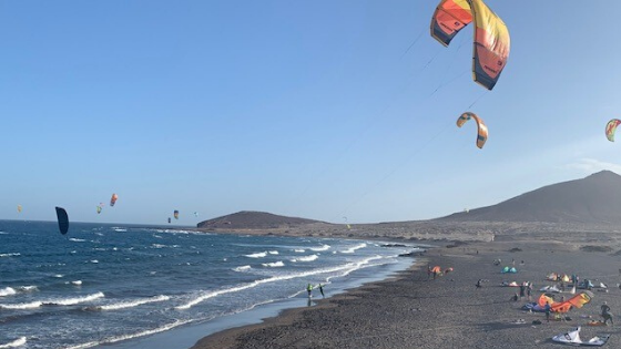
[[(621, 346), (621, 324), (587, 326), (601, 319), (607, 301), (612, 314), (621, 311), (617, 287), (621, 257), (588, 252), (578, 244), (526, 240), (445, 244), (429, 249), (417, 263), (395, 277), (367, 284), (329, 299), (317, 299), (309, 307), (283, 311), (258, 325), (233, 328), (200, 340), (192, 349), (211, 348), (553, 348), (551, 338), (582, 326), (581, 338), (610, 335), (605, 347)], [(500, 258), (500, 266), (493, 260)], [(515, 261), (517, 274), (501, 274)], [(523, 260), (523, 264), (522, 264)], [(452, 273), (437, 277), (427, 265), (449, 267)], [(528, 312), (526, 298), (512, 301), (519, 288), (502, 281), (531, 281), (532, 300), (542, 294), (550, 273), (577, 274), (593, 284), (604, 283), (609, 291), (593, 289), (594, 298), (566, 316), (571, 320), (546, 321), (542, 312)], [(482, 287), (477, 288), (477, 280)], [(569, 292), (556, 296), (570, 298)], [(515, 324), (523, 319), (525, 324)], [(533, 320), (542, 321), (533, 325)]]

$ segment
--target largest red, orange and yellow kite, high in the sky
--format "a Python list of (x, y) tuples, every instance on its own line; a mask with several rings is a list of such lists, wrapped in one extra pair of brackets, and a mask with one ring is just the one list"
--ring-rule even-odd
[(491, 90), (507, 64), (511, 40), (505, 22), (482, 0), (441, 0), (431, 18), (431, 37), (448, 47), (452, 38), (472, 21), (472, 79)]

